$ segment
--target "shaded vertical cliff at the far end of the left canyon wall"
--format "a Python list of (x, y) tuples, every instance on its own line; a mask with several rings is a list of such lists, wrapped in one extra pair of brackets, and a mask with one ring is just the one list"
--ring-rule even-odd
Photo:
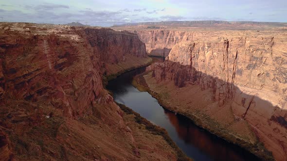
[[(86, 37), (90, 46), (101, 62), (117, 64), (125, 61), (125, 56), (146, 57), (145, 44), (138, 38), (137, 34), (127, 31), (115, 32), (110, 29), (85, 29), (83, 36)], [(113, 36), (111, 36), (113, 35)]]

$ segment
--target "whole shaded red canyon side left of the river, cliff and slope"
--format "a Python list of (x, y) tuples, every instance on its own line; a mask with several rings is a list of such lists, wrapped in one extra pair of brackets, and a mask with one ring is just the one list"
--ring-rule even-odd
[(134, 33), (0, 23), (0, 158), (176, 160), (102, 83), (150, 61)]

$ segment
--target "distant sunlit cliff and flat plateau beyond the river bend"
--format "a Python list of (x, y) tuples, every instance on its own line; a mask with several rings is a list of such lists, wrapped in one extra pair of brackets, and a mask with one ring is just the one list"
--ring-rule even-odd
[(226, 34), (226, 31), (233, 32), (234, 30), (257, 30), (257, 32), (260, 32), (274, 30), (275, 27), (278, 27), (276, 29), (284, 30), (285, 26), (287, 26), (287, 23), (171, 21), (123, 24), (115, 25), (112, 28), (114, 30), (127, 30), (137, 33), (145, 43), (146, 51), (149, 55), (166, 57), (176, 43), (188, 40), (197, 41), (204, 37), (212, 37), (216, 34), (214, 31), (224, 31), (223, 34)]

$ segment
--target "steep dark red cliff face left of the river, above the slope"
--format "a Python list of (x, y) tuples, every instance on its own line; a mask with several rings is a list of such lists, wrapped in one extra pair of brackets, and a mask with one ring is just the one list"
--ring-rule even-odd
[(34, 102), (51, 99), (65, 116), (76, 118), (90, 113), (91, 103), (105, 96), (105, 64), (123, 62), (125, 55), (146, 57), (144, 44), (128, 32), (33, 28), (2, 26), (1, 103), (7, 97)]

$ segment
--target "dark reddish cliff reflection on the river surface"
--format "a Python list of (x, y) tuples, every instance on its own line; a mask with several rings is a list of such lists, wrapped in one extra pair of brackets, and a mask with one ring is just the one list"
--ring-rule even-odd
[[(221, 139), (218, 139), (215, 135), (210, 135), (209, 132), (203, 129), (198, 130), (198, 127), (187, 117), (180, 114), (176, 115), (167, 110), (164, 110), (164, 113), (175, 127), (179, 138), (181, 138), (185, 144), (203, 149), (203, 151), (211, 155), (212, 158), (220, 159), (220, 161), (228, 161), (231, 158), (233, 161), (259, 161), (257, 157), (251, 155), (244, 148), (230, 145), (229, 143), (222, 144)], [(236, 149), (236, 152), (230, 149)]]

